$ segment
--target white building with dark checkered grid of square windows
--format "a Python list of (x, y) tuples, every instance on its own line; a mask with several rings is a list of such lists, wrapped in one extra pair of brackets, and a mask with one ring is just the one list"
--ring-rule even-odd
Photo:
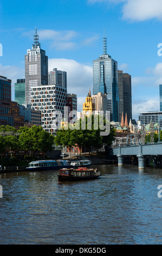
[[(66, 106), (66, 88), (57, 85), (36, 86), (31, 88), (31, 107), (41, 111), (42, 127), (55, 135), (64, 117)], [(58, 114), (56, 113), (58, 112)], [(57, 118), (57, 123), (55, 122)]]

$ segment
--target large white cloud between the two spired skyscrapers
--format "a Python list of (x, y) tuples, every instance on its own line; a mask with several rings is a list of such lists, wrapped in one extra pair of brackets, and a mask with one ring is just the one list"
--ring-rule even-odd
[(89, 88), (91, 92), (93, 88), (92, 66), (80, 64), (73, 59), (49, 59), (48, 70), (52, 71), (54, 68), (67, 72), (68, 93), (77, 95), (77, 110), (81, 111)]

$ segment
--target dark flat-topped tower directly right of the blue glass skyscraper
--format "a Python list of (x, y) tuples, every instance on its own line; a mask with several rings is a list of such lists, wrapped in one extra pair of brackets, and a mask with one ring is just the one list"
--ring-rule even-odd
[(118, 70), (119, 88), (119, 121), (121, 122), (122, 113), (127, 115), (128, 122), (132, 120), (132, 84), (131, 75)]

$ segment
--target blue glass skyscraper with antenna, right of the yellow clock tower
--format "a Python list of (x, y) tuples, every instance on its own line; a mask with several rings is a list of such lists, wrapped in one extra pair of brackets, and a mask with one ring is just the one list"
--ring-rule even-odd
[(110, 121), (118, 121), (118, 62), (107, 54), (107, 38), (103, 38), (103, 54), (93, 60), (93, 94), (103, 93), (107, 97)]

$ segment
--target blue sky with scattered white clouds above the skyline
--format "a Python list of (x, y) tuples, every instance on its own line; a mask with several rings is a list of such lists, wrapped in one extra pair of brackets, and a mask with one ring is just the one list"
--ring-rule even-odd
[(133, 118), (138, 120), (139, 112), (159, 111), (161, 17), (161, 0), (1, 0), (0, 74), (11, 78), (14, 100), (14, 83), (24, 78), (24, 55), (37, 27), (49, 71), (67, 71), (68, 93), (77, 94), (81, 111), (93, 90), (93, 59), (103, 53), (105, 28), (108, 54), (132, 76)]

